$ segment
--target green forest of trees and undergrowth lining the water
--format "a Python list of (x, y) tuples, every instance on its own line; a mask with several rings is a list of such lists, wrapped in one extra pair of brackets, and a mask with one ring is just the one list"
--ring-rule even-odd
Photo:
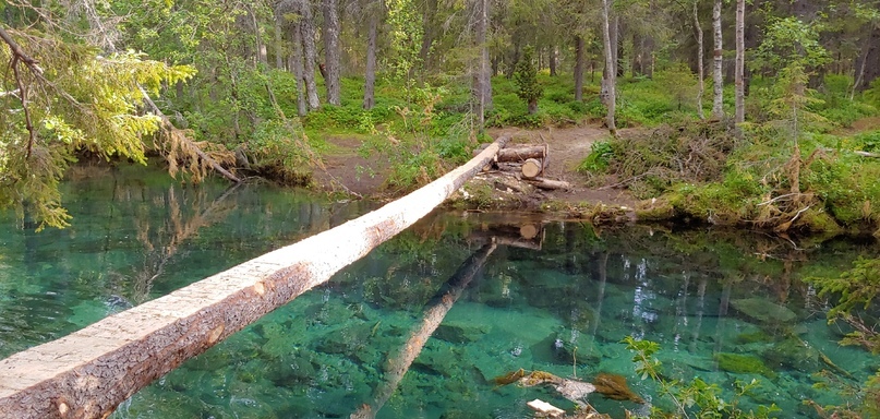
[[(880, 236), (877, 0), (7, 0), (0, 40), (0, 208), (38, 229), (88, 159), (309, 184), (346, 136), (402, 192), (489, 129), (593, 125), (580, 181), (639, 219)], [(878, 277), (816, 279), (872, 350)]]

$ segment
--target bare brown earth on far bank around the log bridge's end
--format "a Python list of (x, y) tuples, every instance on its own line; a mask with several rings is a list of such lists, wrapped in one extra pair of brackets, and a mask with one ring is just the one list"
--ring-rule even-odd
[[(576, 170), (590, 154), (591, 145), (607, 136), (607, 130), (594, 125), (540, 130), (504, 128), (492, 129), (489, 133), (494, 139), (510, 134), (514, 136), (513, 143), (517, 144), (538, 145), (546, 142), (550, 145), (550, 166), (544, 177), (567, 181), (572, 187), (570, 190), (534, 190), (528, 192), (528, 196), (517, 196), (525, 203), (520, 205), (522, 210), (538, 210), (547, 202), (555, 203), (554, 206), (560, 210), (598, 204), (625, 206), (629, 210), (627, 212), (635, 207), (637, 200), (628, 191), (611, 185), (589, 187), (584, 176)], [(399, 194), (385, 189), (387, 159), (378, 156), (364, 158), (358, 154), (360, 139), (333, 136), (328, 142), (330, 149), (325, 154), (325, 170), (315, 171), (318, 187), (325, 190), (348, 190), (373, 199), (388, 199)]]

